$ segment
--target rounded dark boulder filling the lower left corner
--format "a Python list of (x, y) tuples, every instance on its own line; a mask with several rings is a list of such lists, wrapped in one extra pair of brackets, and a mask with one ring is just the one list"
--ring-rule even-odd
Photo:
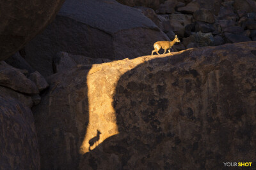
[(0, 93), (0, 169), (40, 169), (31, 110)]

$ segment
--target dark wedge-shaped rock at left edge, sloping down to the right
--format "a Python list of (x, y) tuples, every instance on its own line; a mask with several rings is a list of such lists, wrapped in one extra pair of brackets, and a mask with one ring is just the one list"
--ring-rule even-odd
[(25, 94), (38, 94), (39, 90), (33, 81), (26, 78), (19, 69), (0, 62), (0, 85)]

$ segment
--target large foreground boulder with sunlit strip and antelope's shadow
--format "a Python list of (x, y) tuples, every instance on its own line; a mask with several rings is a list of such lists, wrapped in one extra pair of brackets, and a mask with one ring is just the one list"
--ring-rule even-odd
[(255, 48), (193, 48), (50, 76), (33, 108), (42, 169), (221, 169), (223, 160), (255, 160)]

